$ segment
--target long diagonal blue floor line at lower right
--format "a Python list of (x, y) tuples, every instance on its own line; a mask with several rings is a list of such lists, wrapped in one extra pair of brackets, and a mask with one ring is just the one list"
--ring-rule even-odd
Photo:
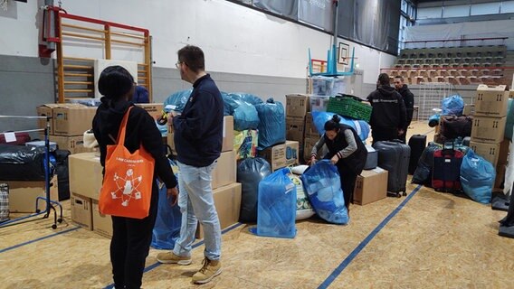
[(339, 264), (339, 266), (330, 274), (328, 275), (327, 279), (325, 279), (325, 281), (323, 281), (323, 283), (319, 284), (318, 288), (321, 289), (321, 288), (328, 288), (328, 286), (330, 284), (332, 284), (332, 282), (334, 282), (334, 280), (336, 280), (336, 278), (338, 277), (338, 275), (340, 275), (343, 270), (345, 270), (345, 268), (353, 261), (353, 259), (355, 259), (355, 257), (367, 246), (367, 244), (369, 244), (369, 242), (375, 238), (376, 234), (378, 234), (378, 232), (380, 232), (380, 230), (384, 227), (386, 227), (387, 223), (393, 219), (393, 217), (395, 217), (395, 215), (400, 211), (402, 210), (404, 207), (405, 207), (405, 204), (411, 200), (414, 195), (416, 194), (417, 191), (419, 191), (420, 189), (422, 188), (422, 185), (418, 185), (414, 191), (412, 191), (406, 198), (404, 201), (402, 201), (402, 203), (400, 205), (398, 205), (398, 207), (393, 210), (389, 215), (387, 215), (386, 219), (384, 219), (382, 222), (380, 222), (380, 224), (378, 224), (378, 226), (376, 226), (376, 228), (371, 232), (369, 233), (369, 235), (367, 235), (367, 237), (362, 240), (362, 242), (360, 242), (360, 244), (358, 244), (358, 246), (350, 253), (350, 255), (348, 255), (346, 257), (346, 259), (343, 260), (343, 262), (341, 262), (341, 264)]

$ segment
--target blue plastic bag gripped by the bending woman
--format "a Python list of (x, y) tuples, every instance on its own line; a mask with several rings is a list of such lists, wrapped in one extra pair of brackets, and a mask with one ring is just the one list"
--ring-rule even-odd
[(301, 181), (319, 218), (334, 224), (348, 223), (348, 211), (335, 165), (321, 160), (301, 175)]

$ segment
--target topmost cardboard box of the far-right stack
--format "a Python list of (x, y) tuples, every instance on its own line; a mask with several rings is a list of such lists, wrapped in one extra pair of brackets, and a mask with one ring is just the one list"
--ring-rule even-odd
[(475, 116), (481, 117), (505, 117), (507, 116), (507, 105), (509, 91), (507, 86), (499, 85), (490, 87), (485, 84), (479, 85), (475, 99)]

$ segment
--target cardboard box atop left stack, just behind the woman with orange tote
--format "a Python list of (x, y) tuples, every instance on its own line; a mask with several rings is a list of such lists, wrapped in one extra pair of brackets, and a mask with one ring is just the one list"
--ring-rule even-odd
[(83, 135), (91, 129), (97, 107), (86, 107), (80, 104), (60, 104), (53, 107), (52, 135)]

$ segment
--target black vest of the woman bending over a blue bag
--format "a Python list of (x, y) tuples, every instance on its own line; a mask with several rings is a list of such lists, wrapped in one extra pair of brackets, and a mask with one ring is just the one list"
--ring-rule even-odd
[(325, 138), (325, 144), (327, 144), (328, 148), (328, 154), (325, 156), (325, 158), (331, 159), (335, 154), (338, 154), (339, 151), (348, 146), (347, 139), (345, 137), (345, 130), (347, 129), (351, 130), (354, 135), (357, 143), (357, 151), (353, 152), (345, 158), (339, 159), (336, 165), (342, 166), (344, 170), (350, 170), (360, 174), (364, 168), (364, 165), (366, 164), (367, 150), (366, 146), (362, 143), (360, 137), (357, 135), (357, 132), (351, 126), (340, 124), (338, 135), (336, 135), (336, 138), (334, 138), (333, 141), (329, 140), (327, 135), (323, 135)]

